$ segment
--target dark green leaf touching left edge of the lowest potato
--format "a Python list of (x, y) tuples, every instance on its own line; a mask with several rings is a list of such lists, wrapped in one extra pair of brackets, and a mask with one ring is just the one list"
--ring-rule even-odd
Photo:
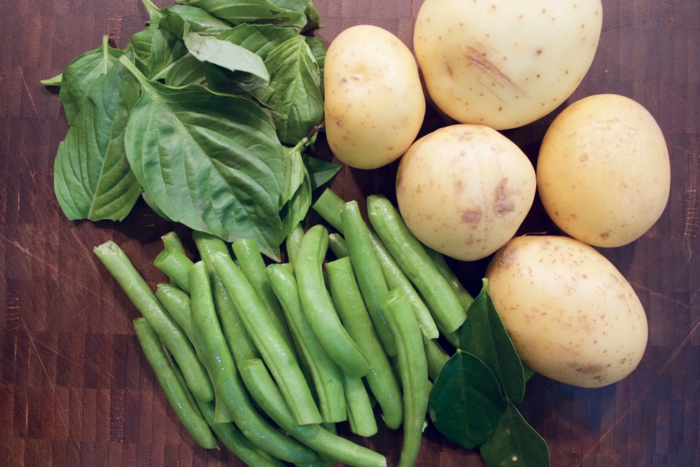
[(520, 358), (489, 295), (488, 279), (467, 310), (459, 342), (463, 351), (479, 357), (491, 368), (507, 398), (519, 403), (525, 394), (525, 377)]

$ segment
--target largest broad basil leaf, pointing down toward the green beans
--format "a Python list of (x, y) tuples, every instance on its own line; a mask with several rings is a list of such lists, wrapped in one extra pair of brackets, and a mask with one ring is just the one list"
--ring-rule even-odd
[(254, 239), (279, 260), (284, 155), (267, 114), (249, 99), (130, 71), (143, 92), (125, 144), (148, 197), (172, 221), (227, 242)]

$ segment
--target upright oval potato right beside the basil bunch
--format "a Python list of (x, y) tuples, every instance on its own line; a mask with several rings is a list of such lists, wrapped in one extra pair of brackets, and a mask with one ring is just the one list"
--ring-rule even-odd
[(324, 79), (328, 144), (346, 165), (382, 167), (416, 139), (426, 99), (413, 54), (391, 32), (345, 29), (328, 47)]

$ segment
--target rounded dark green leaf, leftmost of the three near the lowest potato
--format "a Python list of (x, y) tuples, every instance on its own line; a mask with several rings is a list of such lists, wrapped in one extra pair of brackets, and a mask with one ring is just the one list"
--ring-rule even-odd
[(430, 392), (428, 414), (437, 431), (472, 449), (488, 438), (504, 410), (505, 399), (493, 372), (476, 356), (458, 349)]

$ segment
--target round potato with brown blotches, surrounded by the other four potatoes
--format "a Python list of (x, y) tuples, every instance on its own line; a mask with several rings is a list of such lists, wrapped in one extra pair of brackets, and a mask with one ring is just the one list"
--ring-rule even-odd
[(517, 232), (535, 189), (527, 156), (483, 125), (450, 125), (421, 137), (396, 176), (398, 207), (413, 235), (466, 261), (489, 256)]

